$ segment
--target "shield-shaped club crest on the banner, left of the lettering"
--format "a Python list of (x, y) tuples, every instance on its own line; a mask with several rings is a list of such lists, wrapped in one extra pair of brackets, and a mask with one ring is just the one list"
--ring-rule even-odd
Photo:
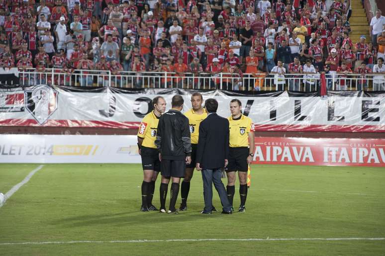
[(40, 124), (44, 124), (58, 108), (59, 92), (47, 85), (38, 85), (24, 92), (25, 108)]

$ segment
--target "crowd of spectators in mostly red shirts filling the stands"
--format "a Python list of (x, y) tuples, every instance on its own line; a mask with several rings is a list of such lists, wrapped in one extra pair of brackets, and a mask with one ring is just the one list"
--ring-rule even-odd
[(274, 74), (276, 83), (385, 74), (385, 17), (377, 11), (371, 38), (353, 44), (351, 14), (350, 0), (0, 0), (0, 66)]

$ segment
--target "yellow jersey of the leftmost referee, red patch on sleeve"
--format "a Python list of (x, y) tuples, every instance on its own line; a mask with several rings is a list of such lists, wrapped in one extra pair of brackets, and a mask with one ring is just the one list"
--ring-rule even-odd
[(142, 146), (156, 149), (155, 139), (159, 118), (154, 111), (148, 113), (142, 120), (138, 130), (138, 137), (143, 138)]

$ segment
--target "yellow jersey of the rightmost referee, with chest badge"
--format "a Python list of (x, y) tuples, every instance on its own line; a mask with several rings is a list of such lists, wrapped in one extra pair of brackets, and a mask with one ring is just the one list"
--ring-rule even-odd
[(232, 116), (229, 118), (230, 123), (230, 148), (248, 147), (249, 146), (249, 132), (254, 132), (254, 123), (250, 117), (243, 114), (233, 119)]

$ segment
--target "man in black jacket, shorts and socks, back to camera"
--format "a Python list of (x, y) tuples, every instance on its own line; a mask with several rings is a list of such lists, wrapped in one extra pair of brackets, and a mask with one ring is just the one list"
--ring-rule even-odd
[(170, 207), (167, 213), (178, 213), (175, 209), (179, 193), (179, 182), (185, 176), (186, 164), (191, 163), (191, 138), (189, 119), (181, 113), (184, 100), (181, 95), (172, 99), (172, 108), (159, 119), (155, 145), (159, 150), (162, 183), (160, 185), (160, 212), (166, 212), (167, 190), (171, 184)]

